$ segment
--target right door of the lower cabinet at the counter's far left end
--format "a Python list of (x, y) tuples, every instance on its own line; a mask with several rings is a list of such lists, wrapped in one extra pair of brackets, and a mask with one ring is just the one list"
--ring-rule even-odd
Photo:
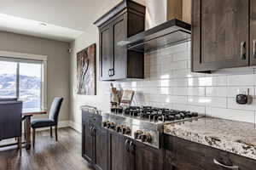
[(102, 127), (96, 128), (96, 159), (97, 169), (108, 170), (108, 131)]

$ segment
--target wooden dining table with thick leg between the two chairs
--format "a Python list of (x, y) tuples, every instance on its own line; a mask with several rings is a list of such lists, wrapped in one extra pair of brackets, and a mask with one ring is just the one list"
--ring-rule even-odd
[(24, 121), (24, 135), (25, 135), (25, 147), (26, 150), (31, 148), (31, 120), (32, 116), (44, 115), (47, 111), (22, 111), (22, 120)]

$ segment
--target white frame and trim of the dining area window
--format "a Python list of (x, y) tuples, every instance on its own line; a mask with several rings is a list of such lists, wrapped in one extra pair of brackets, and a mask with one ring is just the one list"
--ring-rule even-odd
[[(47, 109), (47, 55), (24, 54), (24, 53), (16, 53), (16, 52), (0, 50), (0, 59), (1, 59), (1, 57), (7, 58), (7, 59), (14, 59), (15, 61), (17, 61), (17, 59), (26, 59), (26, 61), (31, 60), (32, 63), (37, 63), (37, 61), (39, 61), (40, 63), (43, 63), (42, 71), (41, 71), (41, 77), (42, 77), (41, 109), (46, 110)], [(18, 67), (19, 67), (19, 65), (18, 65)], [(19, 68), (17, 68), (17, 71), (19, 71)], [(19, 72), (17, 72), (17, 74), (19, 74)], [(19, 90), (16, 92), (19, 93)]]

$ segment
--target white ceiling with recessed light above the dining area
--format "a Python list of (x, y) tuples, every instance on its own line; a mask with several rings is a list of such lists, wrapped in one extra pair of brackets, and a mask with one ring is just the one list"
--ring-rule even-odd
[[(136, 0), (144, 4), (144, 0)], [(0, 0), (0, 31), (72, 42), (121, 0)]]

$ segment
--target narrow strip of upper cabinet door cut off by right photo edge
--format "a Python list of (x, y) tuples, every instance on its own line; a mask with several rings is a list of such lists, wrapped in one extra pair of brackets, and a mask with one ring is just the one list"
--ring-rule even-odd
[(256, 65), (256, 1), (250, 1), (250, 65)]

